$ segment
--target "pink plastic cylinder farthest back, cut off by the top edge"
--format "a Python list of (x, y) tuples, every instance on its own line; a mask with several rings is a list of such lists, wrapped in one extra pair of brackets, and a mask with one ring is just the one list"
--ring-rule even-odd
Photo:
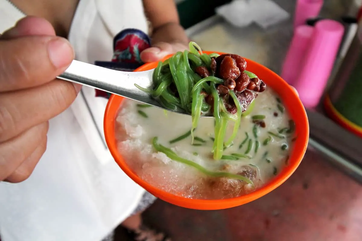
[(318, 17), (323, 0), (297, 0), (294, 13), (294, 29), (306, 24), (308, 18)]

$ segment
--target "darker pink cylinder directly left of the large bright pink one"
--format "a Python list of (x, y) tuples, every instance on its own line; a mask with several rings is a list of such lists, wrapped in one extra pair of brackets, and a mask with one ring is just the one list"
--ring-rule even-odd
[(296, 27), (290, 42), (288, 52), (285, 56), (281, 77), (290, 85), (294, 85), (303, 66), (314, 27), (301, 25)]

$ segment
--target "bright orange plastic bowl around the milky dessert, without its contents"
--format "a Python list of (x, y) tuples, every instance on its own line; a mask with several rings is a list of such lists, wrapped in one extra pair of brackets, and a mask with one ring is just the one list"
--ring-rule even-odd
[[(207, 54), (214, 53), (210, 51), (204, 52)], [(165, 57), (164, 60), (168, 59), (170, 56)], [(295, 141), (294, 148), (292, 149), (289, 158), (289, 165), (287, 165), (277, 176), (269, 181), (269, 183), (265, 184), (262, 188), (252, 193), (242, 195), (240, 197), (216, 200), (184, 198), (168, 193), (148, 184), (128, 167), (127, 163), (122, 157), (122, 154), (119, 153), (117, 150), (117, 140), (115, 137), (115, 119), (124, 98), (118, 95), (112, 95), (108, 101), (108, 105), (105, 111), (104, 132), (109, 150), (119, 167), (121, 167), (121, 169), (130, 178), (132, 178), (132, 180), (134, 180), (137, 184), (155, 195), (157, 198), (160, 198), (166, 202), (172, 203), (177, 206), (198, 210), (218, 210), (240, 206), (264, 196), (265, 194), (273, 191), (275, 188), (285, 182), (298, 167), (307, 149), (309, 137), (307, 114), (296, 92), (281, 77), (279, 77), (277, 74), (275, 74), (273, 71), (266, 68), (265, 66), (262, 66), (252, 60), (246, 60), (248, 63), (247, 70), (255, 73), (266, 83), (269, 88), (272, 88), (275, 92), (277, 92), (277, 94), (280, 96), (283, 103), (285, 104), (286, 109), (289, 111), (291, 118), (295, 121), (296, 124), (295, 132), (297, 135), (297, 139)], [(148, 63), (136, 69), (135, 71), (150, 70), (156, 68), (156, 66), (157, 63)]]

